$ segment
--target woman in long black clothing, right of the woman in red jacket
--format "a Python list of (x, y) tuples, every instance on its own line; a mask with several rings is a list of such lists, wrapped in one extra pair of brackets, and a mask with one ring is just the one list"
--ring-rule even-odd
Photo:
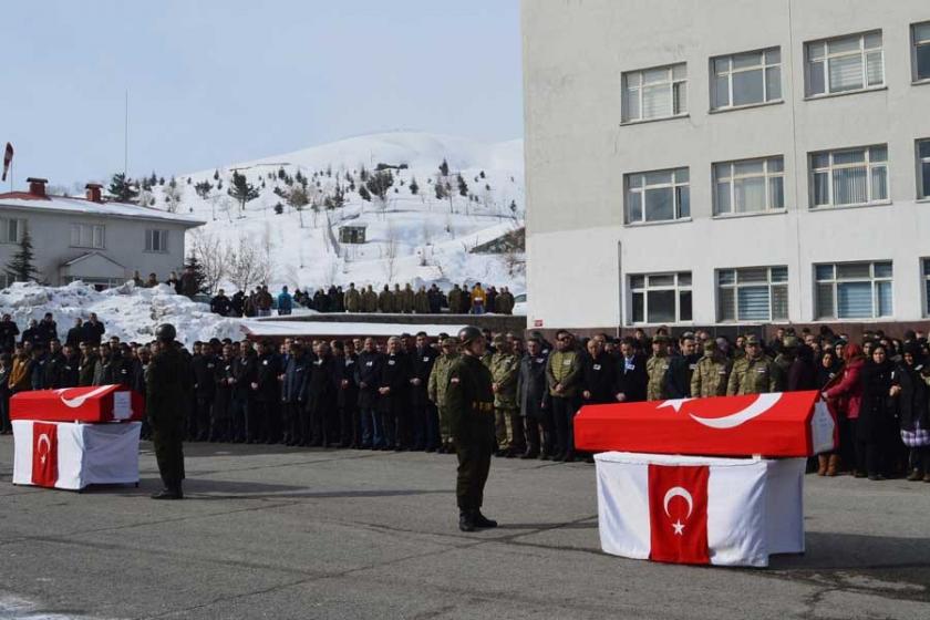
[(874, 343), (862, 366), (862, 400), (856, 422), (856, 476), (884, 480), (889, 466), (888, 435), (893, 427), (891, 375), (895, 363), (881, 343)]

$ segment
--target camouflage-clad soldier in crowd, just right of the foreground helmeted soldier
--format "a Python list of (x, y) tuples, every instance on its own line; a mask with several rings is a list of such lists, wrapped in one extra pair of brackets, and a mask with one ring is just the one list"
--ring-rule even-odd
[(517, 406), (517, 379), (520, 360), (514, 355), (510, 343), (503, 335), (494, 338), (497, 350), (490, 359), (494, 379), (494, 430), (497, 436), (497, 456), (512, 458), (526, 452), (523, 421)]

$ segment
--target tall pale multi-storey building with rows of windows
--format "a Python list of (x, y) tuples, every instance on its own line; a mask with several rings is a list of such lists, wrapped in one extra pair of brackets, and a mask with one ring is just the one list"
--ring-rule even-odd
[(525, 0), (529, 327), (930, 308), (928, 0)]

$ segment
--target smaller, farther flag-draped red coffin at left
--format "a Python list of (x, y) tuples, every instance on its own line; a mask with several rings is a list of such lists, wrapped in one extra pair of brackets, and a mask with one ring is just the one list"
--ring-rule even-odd
[(142, 420), (145, 402), (125, 385), (94, 385), (20, 392), (10, 399), (10, 420), (125, 422)]

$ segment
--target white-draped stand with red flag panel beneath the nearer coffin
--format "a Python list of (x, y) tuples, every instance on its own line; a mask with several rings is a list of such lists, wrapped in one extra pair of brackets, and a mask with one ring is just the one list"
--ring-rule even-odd
[(719, 566), (767, 566), (804, 551), (804, 458), (595, 456), (598, 527), (608, 554)]

